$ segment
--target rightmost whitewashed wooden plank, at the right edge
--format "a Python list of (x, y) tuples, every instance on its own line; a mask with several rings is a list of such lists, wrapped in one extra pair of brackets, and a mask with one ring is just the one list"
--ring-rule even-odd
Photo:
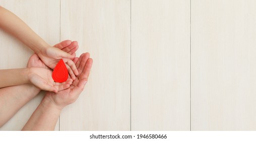
[(256, 1), (191, 1), (191, 130), (256, 130)]

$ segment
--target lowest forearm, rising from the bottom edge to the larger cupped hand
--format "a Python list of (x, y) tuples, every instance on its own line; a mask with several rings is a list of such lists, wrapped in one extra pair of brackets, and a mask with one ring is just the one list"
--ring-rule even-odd
[(44, 97), (22, 130), (54, 130), (61, 109)]

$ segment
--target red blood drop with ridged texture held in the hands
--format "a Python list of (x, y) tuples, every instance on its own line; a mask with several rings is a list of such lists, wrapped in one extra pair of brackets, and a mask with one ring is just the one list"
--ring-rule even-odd
[(55, 82), (65, 82), (68, 80), (69, 72), (62, 59), (59, 60), (52, 72), (52, 79)]

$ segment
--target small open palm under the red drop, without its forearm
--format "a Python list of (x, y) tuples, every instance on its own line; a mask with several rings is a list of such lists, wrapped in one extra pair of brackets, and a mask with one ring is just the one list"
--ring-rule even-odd
[(65, 90), (70, 87), (73, 80), (68, 78), (66, 82), (56, 83), (52, 79), (52, 71), (46, 68), (30, 67), (28, 73), (28, 80), (35, 87), (57, 93), (58, 91)]

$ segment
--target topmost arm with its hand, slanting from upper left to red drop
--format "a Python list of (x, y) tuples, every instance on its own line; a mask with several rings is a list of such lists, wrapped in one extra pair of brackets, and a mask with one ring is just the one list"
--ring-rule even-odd
[(60, 59), (63, 59), (71, 78), (73, 80), (76, 79), (75, 75), (78, 75), (78, 70), (75, 63), (71, 60), (74, 59), (75, 54), (67, 53), (50, 46), (19, 17), (1, 6), (0, 13), (0, 28), (15, 36), (35, 51), (41, 60), (51, 69), (56, 66)]

